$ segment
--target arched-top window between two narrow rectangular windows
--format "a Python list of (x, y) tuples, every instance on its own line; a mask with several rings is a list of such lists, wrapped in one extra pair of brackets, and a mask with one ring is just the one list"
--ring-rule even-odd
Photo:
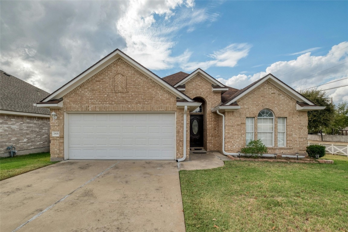
[(274, 146), (274, 115), (268, 109), (258, 114), (258, 139), (266, 146)]

